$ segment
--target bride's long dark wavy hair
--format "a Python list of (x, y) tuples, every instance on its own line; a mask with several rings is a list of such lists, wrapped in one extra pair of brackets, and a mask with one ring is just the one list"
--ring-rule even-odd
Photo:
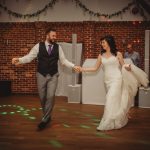
[[(116, 42), (115, 42), (114, 37), (112, 35), (107, 35), (100, 39), (100, 41), (103, 41), (103, 40), (105, 40), (108, 43), (108, 45), (110, 47), (110, 52), (116, 56), (118, 50), (116, 48)], [(102, 48), (101, 54), (103, 54), (105, 52), (106, 52), (106, 50)]]

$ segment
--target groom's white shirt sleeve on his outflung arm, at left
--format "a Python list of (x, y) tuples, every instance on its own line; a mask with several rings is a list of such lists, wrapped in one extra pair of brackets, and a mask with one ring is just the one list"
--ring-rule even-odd
[(20, 57), (19, 63), (20, 64), (30, 63), (33, 59), (37, 57), (38, 52), (39, 52), (39, 43), (36, 44), (27, 55)]

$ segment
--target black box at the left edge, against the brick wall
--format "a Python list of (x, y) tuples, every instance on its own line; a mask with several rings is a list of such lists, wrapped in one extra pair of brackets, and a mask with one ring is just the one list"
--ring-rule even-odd
[(11, 95), (11, 81), (0, 81), (0, 96)]

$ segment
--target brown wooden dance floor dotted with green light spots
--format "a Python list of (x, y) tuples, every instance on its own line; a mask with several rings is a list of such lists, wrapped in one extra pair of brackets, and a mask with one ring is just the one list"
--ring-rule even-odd
[(150, 150), (150, 109), (135, 107), (127, 126), (98, 132), (103, 108), (56, 97), (51, 124), (37, 131), (38, 96), (0, 97), (0, 150)]

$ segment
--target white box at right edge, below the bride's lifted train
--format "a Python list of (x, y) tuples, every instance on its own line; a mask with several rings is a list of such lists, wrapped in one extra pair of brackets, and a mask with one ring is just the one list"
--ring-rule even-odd
[(150, 108), (150, 87), (139, 88), (139, 107)]

